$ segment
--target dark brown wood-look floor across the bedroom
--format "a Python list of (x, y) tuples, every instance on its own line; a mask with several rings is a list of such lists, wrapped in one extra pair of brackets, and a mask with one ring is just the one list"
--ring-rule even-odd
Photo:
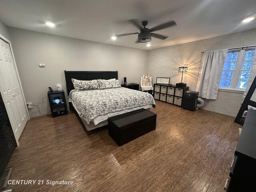
[[(75, 113), (32, 118), (8, 166), (16, 192), (222, 192), (240, 125), (234, 117), (156, 101), (156, 130), (118, 147), (108, 130), (87, 134)], [(46, 180), (73, 185), (46, 185)]]

